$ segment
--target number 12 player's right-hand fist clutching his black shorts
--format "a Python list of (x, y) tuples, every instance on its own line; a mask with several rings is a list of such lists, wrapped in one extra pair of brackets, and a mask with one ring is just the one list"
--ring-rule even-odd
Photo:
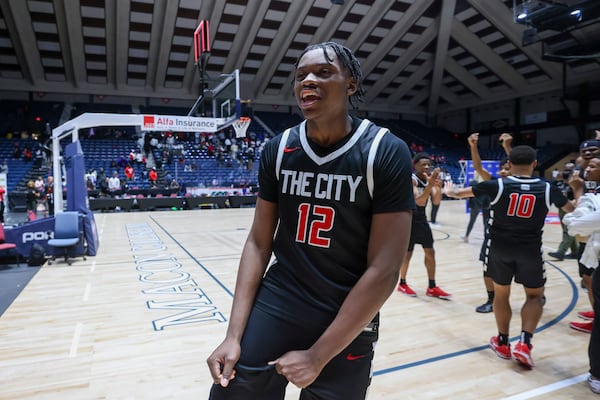
[(324, 367), (315, 362), (310, 350), (288, 351), (278, 359), (269, 361), (269, 365), (274, 365), (278, 374), (299, 388), (310, 386)]

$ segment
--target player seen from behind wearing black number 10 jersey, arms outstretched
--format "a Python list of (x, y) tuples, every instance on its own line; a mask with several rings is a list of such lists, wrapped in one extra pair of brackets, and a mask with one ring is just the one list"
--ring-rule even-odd
[[(517, 146), (509, 155), (512, 176), (483, 181), (475, 186), (445, 187), (448, 196), (464, 198), (488, 195), (492, 199), (487, 266), (494, 281), (494, 316), (498, 336), (490, 347), (501, 358), (515, 359), (533, 367), (531, 338), (542, 316), (542, 297), (546, 271), (542, 259), (542, 228), (551, 204), (565, 212), (573, 205), (554, 185), (533, 177), (536, 152), (529, 146)], [(511, 353), (508, 341), (512, 309), (512, 280), (523, 285), (525, 303), (521, 308), (521, 337)]]

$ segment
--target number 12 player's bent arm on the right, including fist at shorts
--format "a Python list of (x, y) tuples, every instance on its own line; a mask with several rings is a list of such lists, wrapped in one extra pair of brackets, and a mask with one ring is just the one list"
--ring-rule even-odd
[(298, 387), (310, 385), (325, 365), (347, 347), (394, 291), (406, 255), (411, 211), (373, 216), (367, 269), (350, 291), (336, 318), (306, 351), (290, 351), (272, 361), (277, 372)]

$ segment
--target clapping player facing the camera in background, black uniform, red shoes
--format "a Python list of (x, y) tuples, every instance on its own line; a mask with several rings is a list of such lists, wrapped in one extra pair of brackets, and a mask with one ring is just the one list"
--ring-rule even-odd
[(408, 273), (408, 265), (415, 248), (415, 244), (420, 244), (423, 247), (425, 254), (425, 269), (427, 270), (427, 278), (429, 285), (425, 294), (430, 297), (438, 297), (444, 300), (450, 300), (452, 295), (446, 293), (435, 283), (435, 250), (433, 249), (433, 234), (431, 227), (427, 222), (425, 209), (431, 191), (433, 188), (441, 192), (441, 180), (439, 179), (440, 169), (434, 168), (430, 173), (431, 157), (427, 153), (417, 153), (413, 157), (413, 165), (415, 172), (412, 175), (413, 191), (417, 209), (413, 214), (412, 226), (410, 232), (410, 242), (408, 243), (408, 252), (400, 267), (400, 283), (398, 291), (410, 297), (416, 297), (417, 293), (406, 283), (406, 274)]

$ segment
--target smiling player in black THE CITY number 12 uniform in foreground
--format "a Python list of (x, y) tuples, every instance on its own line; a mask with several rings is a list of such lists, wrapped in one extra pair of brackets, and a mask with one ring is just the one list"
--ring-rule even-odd
[[(394, 289), (414, 209), (408, 146), (353, 118), (362, 72), (337, 43), (296, 64), (305, 121), (265, 146), (259, 196), (211, 399), (364, 399), (378, 311)], [(274, 261), (268, 266), (271, 254)]]

